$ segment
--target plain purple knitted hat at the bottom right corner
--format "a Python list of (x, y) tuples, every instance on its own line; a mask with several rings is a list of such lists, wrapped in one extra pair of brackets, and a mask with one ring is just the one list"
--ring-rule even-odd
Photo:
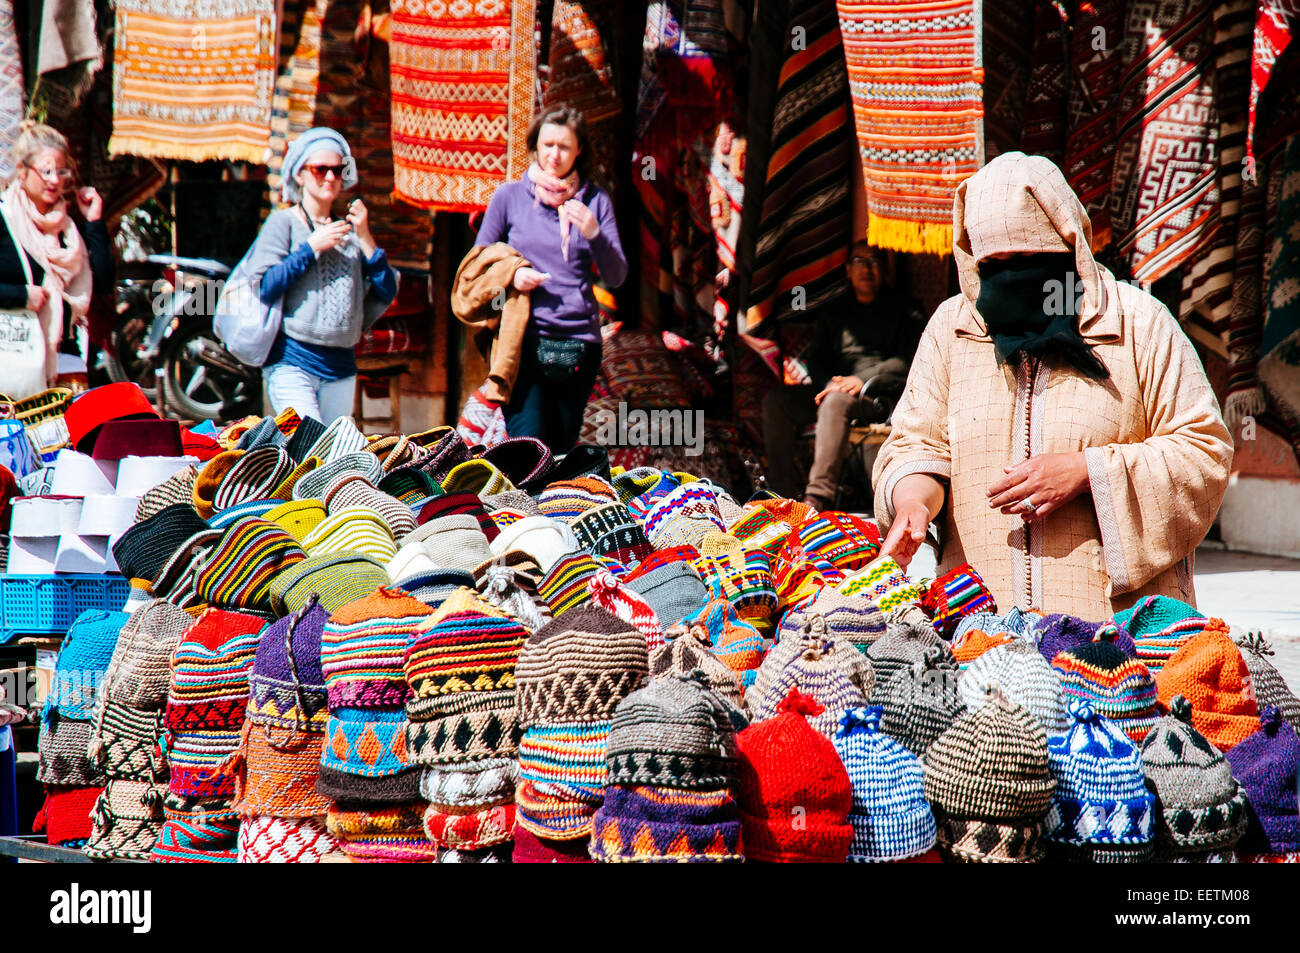
[(1238, 848), (1248, 853), (1292, 853), (1300, 850), (1300, 737), (1275, 705), (1264, 710), (1260, 725), (1260, 731), (1223, 751), (1248, 805), (1249, 822)]

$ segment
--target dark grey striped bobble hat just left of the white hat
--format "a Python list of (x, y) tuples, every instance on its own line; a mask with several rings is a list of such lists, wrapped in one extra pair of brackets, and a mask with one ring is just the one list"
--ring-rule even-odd
[(966, 714), (957, 690), (958, 670), (949, 659), (944, 646), (928, 646), (884, 684), (878, 679), (870, 696), (884, 710), (881, 729), (918, 758)]

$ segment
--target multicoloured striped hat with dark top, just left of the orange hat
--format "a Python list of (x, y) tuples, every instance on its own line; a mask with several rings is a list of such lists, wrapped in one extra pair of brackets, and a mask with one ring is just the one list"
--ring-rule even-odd
[(1147, 666), (1110, 642), (1088, 642), (1062, 651), (1052, 667), (1061, 676), (1066, 701), (1088, 702), (1135, 742), (1140, 744), (1156, 723), (1156, 680)]

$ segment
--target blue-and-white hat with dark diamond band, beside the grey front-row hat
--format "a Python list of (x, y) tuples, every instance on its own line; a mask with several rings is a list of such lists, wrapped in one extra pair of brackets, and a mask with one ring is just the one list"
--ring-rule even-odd
[(1152, 854), (1156, 798), (1141, 754), (1088, 702), (1071, 701), (1065, 733), (1048, 740), (1056, 790), (1046, 816), (1049, 850), (1063, 859), (1139, 863)]

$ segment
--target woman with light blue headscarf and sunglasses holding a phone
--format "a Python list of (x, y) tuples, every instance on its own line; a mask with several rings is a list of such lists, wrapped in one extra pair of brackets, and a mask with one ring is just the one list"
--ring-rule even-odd
[(332, 215), (339, 192), (356, 186), (342, 135), (307, 130), (289, 147), (281, 173), (291, 205), (266, 217), (248, 265), (263, 303), (283, 302), (263, 377), (276, 413), (292, 407), (329, 424), (352, 413), (354, 348), (396, 296), (398, 276), (374, 244), (360, 199), (346, 217)]

